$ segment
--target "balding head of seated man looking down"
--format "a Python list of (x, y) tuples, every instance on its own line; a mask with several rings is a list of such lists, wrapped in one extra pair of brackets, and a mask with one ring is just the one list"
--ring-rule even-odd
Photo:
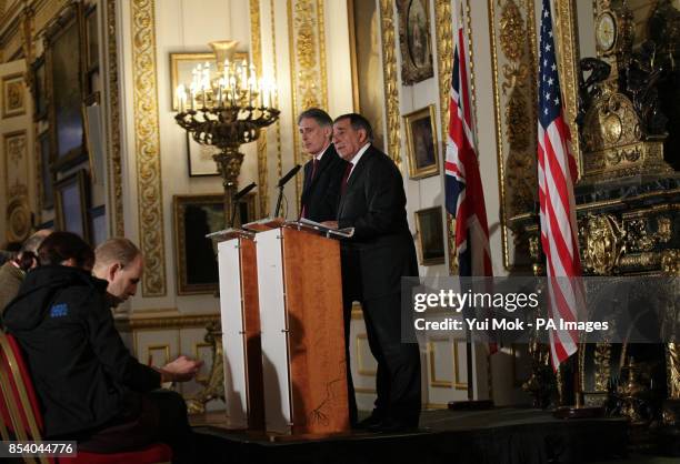
[(109, 282), (107, 291), (118, 302), (137, 293), (143, 269), (141, 251), (128, 239), (109, 239), (94, 250), (92, 274)]

